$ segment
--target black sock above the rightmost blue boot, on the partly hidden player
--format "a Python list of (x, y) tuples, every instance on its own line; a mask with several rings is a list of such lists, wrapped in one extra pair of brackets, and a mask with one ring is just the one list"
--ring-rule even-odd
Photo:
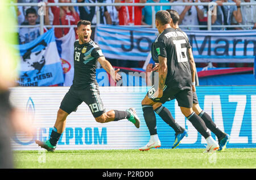
[(217, 136), (218, 140), (221, 140), (223, 137), (226, 136), (226, 133), (222, 132), (221, 129), (217, 127), (217, 125), (213, 122), (212, 118), (207, 114), (205, 111), (201, 111), (199, 116), (204, 120), (205, 125), (207, 126), (210, 131)]

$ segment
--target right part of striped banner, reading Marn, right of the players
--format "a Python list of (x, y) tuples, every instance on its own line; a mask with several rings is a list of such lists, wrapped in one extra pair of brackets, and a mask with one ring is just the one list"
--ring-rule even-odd
[(253, 62), (256, 31), (185, 31), (196, 62)]

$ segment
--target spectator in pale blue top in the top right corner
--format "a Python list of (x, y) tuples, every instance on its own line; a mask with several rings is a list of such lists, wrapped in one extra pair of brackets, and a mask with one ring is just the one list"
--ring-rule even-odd
[[(256, 2), (254, 0), (242, 0), (241, 2)], [(236, 30), (255, 30), (256, 29), (256, 6), (246, 5), (241, 6), (242, 22), (237, 23), (234, 16), (232, 17), (232, 24), (251, 25), (253, 27), (236, 27)]]

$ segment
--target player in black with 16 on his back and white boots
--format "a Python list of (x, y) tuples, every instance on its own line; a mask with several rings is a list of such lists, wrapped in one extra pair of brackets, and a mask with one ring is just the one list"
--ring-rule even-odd
[[(195, 82), (195, 62), (187, 57), (187, 51), (192, 51), (187, 35), (179, 28), (171, 28), (172, 19), (167, 11), (158, 11), (155, 15), (155, 24), (159, 36), (155, 40), (155, 51), (159, 61), (159, 84), (148, 91), (142, 101), (142, 110), (145, 122), (150, 131), (150, 141), (139, 150), (148, 150), (160, 146), (156, 133), (156, 118), (153, 106), (156, 103), (165, 103), (175, 98), (180, 110), (197, 131), (207, 140), (205, 152), (219, 149), (218, 143), (210, 136), (203, 121), (192, 110), (193, 94), (192, 82)], [(188, 53), (190, 54), (190, 53)], [(193, 81), (194, 80), (194, 81)]]

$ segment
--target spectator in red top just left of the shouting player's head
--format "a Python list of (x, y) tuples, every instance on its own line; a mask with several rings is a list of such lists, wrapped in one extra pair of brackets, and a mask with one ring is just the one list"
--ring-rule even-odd
[[(54, 0), (48, 0), (49, 3), (54, 3)], [(71, 0), (59, 0), (60, 3), (71, 3)], [(79, 14), (73, 6), (51, 6), (53, 13), (53, 25), (76, 25), (79, 22)], [(49, 21), (46, 20), (46, 24)], [(55, 37), (60, 38), (68, 34), (69, 28), (55, 28)]]

